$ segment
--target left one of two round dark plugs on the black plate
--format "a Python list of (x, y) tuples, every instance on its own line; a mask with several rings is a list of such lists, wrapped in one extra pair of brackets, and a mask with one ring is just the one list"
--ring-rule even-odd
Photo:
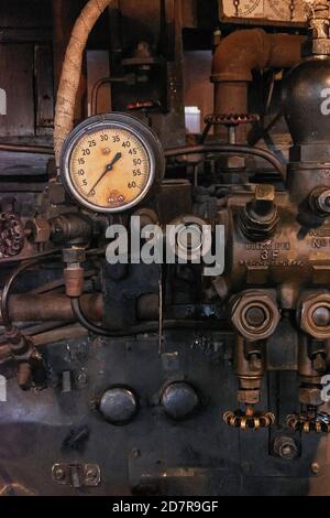
[(138, 411), (138, 398), (129, 387), (111, 387), (106, 390), (99, 401), (99, 412), (111, 424), (128, 424)]

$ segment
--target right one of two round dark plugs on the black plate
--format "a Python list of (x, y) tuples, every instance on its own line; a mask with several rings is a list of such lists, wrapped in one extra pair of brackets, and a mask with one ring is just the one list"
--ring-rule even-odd
[(161, 397), (161, 404), (166, 414), (175, 421), (189, 418), (198, 409), (199, 403), (195, 388), (184, 381), (169, 384)]

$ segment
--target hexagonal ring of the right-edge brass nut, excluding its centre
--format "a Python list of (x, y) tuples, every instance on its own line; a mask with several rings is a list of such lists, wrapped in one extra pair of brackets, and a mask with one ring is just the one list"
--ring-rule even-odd
[(317, 339), (330, 338), (330, 321), (327, 325), (317, 325), (314, 313), (317, 309), (327, 309), (330, 313), (330, 293), (310, 294), (298, 304), (298, 323), (305, 333)]

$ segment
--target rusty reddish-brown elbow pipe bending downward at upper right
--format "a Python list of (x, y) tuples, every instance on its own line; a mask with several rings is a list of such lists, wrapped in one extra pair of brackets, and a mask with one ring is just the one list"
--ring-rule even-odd
[[(262, 29), (239, 30), (220, 41), (212, 62), (215, 114), (248, 114), (248, 87), (252, 71), (292, 68), (300, 61), (305, 36), (267, 34)], [(238, 142), (243, 142), (244, 127)]]

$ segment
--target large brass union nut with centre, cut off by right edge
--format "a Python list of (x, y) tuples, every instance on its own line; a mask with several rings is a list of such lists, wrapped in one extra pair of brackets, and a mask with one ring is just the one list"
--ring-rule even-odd
[(302, 296), (298, 323), (305, 333), (316, 339), (330, 338), (330, 293)]

